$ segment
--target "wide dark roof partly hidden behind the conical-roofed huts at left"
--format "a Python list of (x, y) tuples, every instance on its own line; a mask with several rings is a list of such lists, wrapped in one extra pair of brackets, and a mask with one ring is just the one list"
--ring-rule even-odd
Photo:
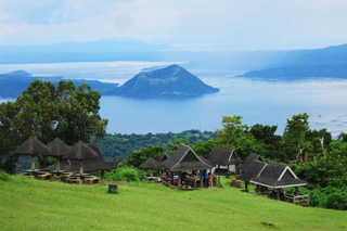
[[(90, 172), (90, 171), (99, 171), (99, 170), (108, 170), (117, 167), (116, 165), (113, 165), (103, 159), (98, 144), (92, 143), (92, 144), (88, 144), (88, 146), (91, 147), (98, 154), (98, 157), (93, 159), (85, 159), (83, 171)], [(55, 168), (56, 168), (56, 165), (54, 164), (54, 165), (48, 166), (46, 170), (54, 170)], [(61, 169), (64, 169), (67, 171), (78, 171), (79, 162), (75, 159), (63, 159), (61, 162)]]

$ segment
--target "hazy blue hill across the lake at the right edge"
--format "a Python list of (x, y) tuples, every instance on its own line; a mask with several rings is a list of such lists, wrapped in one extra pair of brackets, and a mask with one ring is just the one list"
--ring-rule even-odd
[(347, 44), (324, 49), (273, 52), (268, 68), (239, 77), (303, 79), (310, 77), (347, 78)]

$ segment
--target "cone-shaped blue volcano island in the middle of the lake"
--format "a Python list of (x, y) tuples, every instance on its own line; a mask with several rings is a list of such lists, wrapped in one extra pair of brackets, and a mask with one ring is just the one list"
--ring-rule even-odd
[(141, 72), (110, 94), (133, 98), (193, 97), (218, 92), (179, 65)]

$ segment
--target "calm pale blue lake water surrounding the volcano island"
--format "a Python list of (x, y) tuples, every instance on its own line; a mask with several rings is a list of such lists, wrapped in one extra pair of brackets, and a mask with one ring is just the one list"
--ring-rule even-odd
[[(0, 73), (24, 69), (34, 75), (99, 79), (124, 84), (142, 68), (163, 62), (101, 62), (0, 65)], [(108, 118), (108, 133), (213, 131), (223, 115), (242, 115), (243, 123), (278, 125), (282, 134), (286, 119), (310, 115), (311, 129), (326, 128), (334, 137), (347, 130), (347, 80), (308, 79), (264, 81), (234, 77), (234, 72), (188, 69), (219, 93), (185, 99), (131, 99), (102, 97), (100, 114)], [(0, 102), (8, 99), (1, 99)], [(11, 100), (11, 99), (10, 99)]]

